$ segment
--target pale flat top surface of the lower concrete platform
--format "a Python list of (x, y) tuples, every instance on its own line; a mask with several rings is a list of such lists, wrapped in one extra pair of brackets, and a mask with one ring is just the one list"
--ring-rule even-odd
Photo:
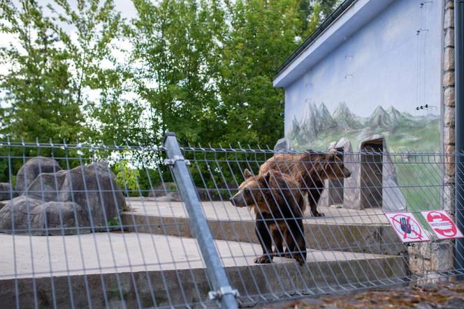
[[(215, 241), (224, 266), (254, 266), (255, 243)], [(195, 239), (157, 234), (102, 232), (71, 236), (0, 234), (0, 280), (92, 273), (203, 268)], [(358, 261), (384, 255), (310, 250), (307, 262)], [(274, 261), (293, 263), (276, 257)]]

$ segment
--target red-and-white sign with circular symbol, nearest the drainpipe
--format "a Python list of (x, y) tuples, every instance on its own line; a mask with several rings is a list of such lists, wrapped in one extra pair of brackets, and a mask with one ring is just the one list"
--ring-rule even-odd
[(453, 220), (449, 218), (446, 211), (421, 211), (423, 218), (432, 227), (438, 239), (454, 239), (464, 237), (463, 233), (456, 227)]

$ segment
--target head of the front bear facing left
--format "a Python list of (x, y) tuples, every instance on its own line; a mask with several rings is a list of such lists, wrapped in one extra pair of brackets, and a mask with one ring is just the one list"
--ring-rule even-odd
[(238, 187), (238, 193), (229, 199), (235, 207), (254, 207), (256, 204), (263, 204), (266, 190), (269, 186), (270, 172), (254, 176), (248, 169), (243, 171), (245, 181)]

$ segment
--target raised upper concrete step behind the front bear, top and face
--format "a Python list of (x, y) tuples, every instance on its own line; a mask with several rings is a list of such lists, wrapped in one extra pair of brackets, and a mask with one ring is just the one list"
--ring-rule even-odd
[[(193, 237), (182, 202), (129, 198), (130, 212), (122, 213), (125, 229), (161, 235)], [(254, 233), (254, 213), (227, 202), (202, 202), (214, 239), (259, 243)], [(319, 207), (324, 217), (305, 213), (305, 239), (309, 248), (356, 253), (398, 255), (406, 247), (379, 209), (356, 211)]]

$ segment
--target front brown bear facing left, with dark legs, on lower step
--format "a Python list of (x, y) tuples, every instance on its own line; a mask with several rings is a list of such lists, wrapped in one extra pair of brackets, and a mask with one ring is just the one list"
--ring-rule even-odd
[(298, 183), (291, 176), (274, 170), (254, 176), (245, 169), (244, 175), (245, 181), (230, 201), (236, 207), (252, 207), (256, 214), (255, 232), (263, 255), (256, 257), (254, 262), (270, 263), (275, 255), (282, 255), (294, 257), (302, 265), (306, 260), (304, 200)]

